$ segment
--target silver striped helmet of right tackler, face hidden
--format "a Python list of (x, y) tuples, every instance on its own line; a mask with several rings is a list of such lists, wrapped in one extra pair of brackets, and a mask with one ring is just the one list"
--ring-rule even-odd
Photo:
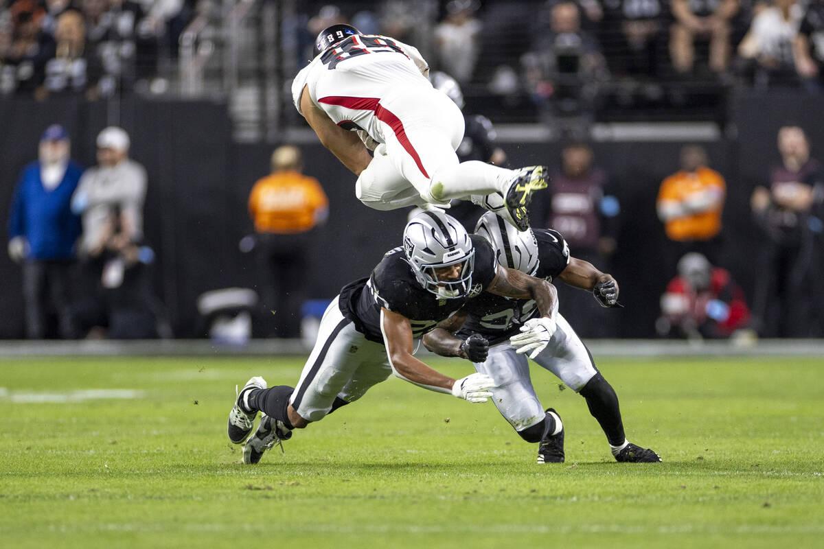
[(475, 235), (492, 244), (498, 263), (534, 275), (538, 270), (538, 241), (531, 229), (517, 230), (493, 212), (480, 216)]

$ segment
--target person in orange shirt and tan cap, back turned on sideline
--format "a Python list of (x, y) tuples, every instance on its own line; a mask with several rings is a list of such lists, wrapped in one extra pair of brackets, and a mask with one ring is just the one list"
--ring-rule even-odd
[(326, 220), (329, 199), (317, 179), (302, 174), (297, 147), (272, 153), (272, 173), (249, 195), (255, 224), (263, 334), (297, 337), (300, 310), (307, 300), (307, 272), (314, 229)]

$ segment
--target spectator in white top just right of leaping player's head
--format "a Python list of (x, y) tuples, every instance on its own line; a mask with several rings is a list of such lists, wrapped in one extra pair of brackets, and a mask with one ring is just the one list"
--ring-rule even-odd
[(461, 85), (470, 81), (480, 53), (478, 7), (477, 0), (452, 0), (446, 18), (435, 27), (438, 65)]

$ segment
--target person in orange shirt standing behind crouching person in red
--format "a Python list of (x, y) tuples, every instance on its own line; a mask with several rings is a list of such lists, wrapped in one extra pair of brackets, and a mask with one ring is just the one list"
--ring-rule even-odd
[(727, 184), (708, 165), (704, 147), (681, 147), (681, 170), (664, 179), (658, 189), (658, 218), (668, 240), (667, 272), (674, 272), (678, 258), (687, 252), (700, 252), (710, 263), (720, 260)]

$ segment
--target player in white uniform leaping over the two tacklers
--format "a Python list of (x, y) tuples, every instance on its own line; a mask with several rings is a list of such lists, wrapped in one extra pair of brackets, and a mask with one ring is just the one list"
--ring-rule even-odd
[(318, 35), (315, 51), (292, 83), (294, 105), (358, 176), (361, 202), (377, 210), (427, 209), (463, 198), (521, 230), (529, 226), (527, 207), (531, 193), (546, 187), (545, 166), (458, 161), (463, 114), (429, 83), (417, 49), (340, 24)]

